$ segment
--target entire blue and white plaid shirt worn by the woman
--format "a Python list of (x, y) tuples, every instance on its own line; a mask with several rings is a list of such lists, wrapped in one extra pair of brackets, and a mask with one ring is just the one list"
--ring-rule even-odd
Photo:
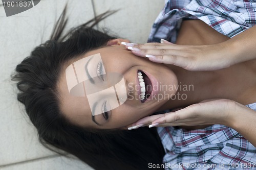
[[(256, 0), (166, 1), (148, 42), (175, 43), (182, 18), (201, 19), (228, 37), (256, 24)], [(256, 111), (256, 103), (247, 105)], [(165, 169), (256, 169), (256, 148), (237, 131), (224, 125), (186, 131), (159, 127), (166, 155)]]

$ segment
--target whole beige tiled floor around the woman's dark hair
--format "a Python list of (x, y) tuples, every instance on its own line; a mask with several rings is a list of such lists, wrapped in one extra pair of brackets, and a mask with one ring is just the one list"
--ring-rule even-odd
[[(15, 66), (32, 49), (49, 38), (53, 24), (68, 0), (41, 0), (32, 9), (6, 17), (0, 7), (0, 169), (91, 169), (86, 164), (61, 157), (41, 147), (36, 130), (24, 108), (16, 101), (10, 81)], [(68, 27), (74, 27), (106, 10), (120, 9), (99, 27), (106, 27), (132, 42), (146, 42), (152, 23), (164, 0), (72, 0), (68, 2)]]

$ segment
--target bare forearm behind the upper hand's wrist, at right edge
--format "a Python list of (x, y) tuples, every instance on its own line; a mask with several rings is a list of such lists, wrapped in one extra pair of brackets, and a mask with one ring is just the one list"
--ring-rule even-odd
[(233, 64), (256, 59), (256, 26), (227, 40)]

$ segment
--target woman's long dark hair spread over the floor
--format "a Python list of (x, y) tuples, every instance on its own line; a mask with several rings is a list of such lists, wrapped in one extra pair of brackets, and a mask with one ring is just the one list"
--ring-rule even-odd
[(95, 169), (148, 169), (148, 163), (161, 164), (164, 155), (155, 128), (90, 130), (72, 124), (59, 108), (56, 84), (63, 65), (115, 38), (93, 29), (114, 12), (105, 12), (62, 35), (68, 20), (65, 8), (50, 40), (16, 66), (12, 80), (17, 81), (17, 99), (25, 105), (45, 147), (73, 154)]

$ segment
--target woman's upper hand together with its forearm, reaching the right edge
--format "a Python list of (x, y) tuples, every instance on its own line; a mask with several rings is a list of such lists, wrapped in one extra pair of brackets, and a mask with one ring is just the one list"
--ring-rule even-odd
[(217, 70), (256, 59), (256, 26), (227, 41), (211, 45), (176, 45), (162, 43), (125, 43), (134, 55), (153, 62), (173, 64), (191, 71)]

